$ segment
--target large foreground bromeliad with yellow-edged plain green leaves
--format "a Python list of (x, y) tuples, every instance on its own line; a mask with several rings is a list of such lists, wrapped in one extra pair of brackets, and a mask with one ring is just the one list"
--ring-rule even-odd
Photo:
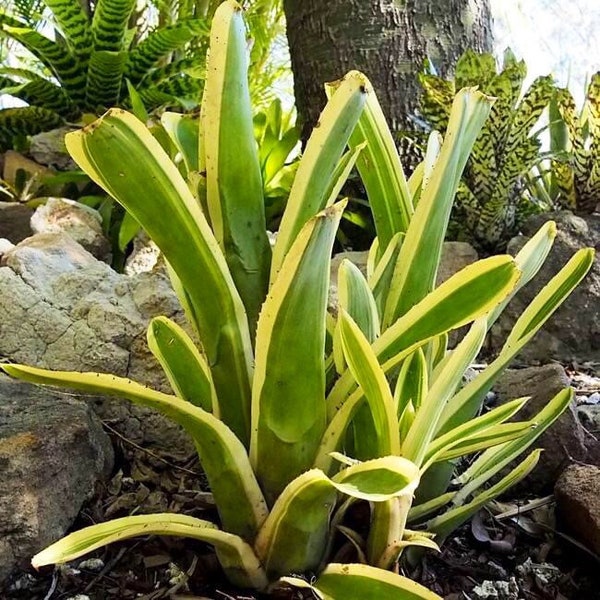
[[(271, 251), (235, 2), (217, 11), (208, 67), (199, 170), (187, 181), (123, 110), (66, 140), (168, 261), (201, 341), (196, 346), (166, 318), (151, 321), (148, 343), (173, 394), (106, 374), (2, 368), (36, 383), (121, 396), (173, 418), (196, 444), (220, 524), (175, 514), (126, 517), (72, 533), (33, 564), (65, 562), (132, 536), (182, 535), (212, 544), (226, 575), (243, 587), (263, 589), (284, 577), (312, 585), (322, 598), (437, 598), (381, 569), (394, 569), (407, 546), (435, 548), (434, 534), (443, 539), (533, 467), (538, 451), (482, 491), (566, 408), (570, 391), (531, 421), (506, 422), (525, 399), (476, 415), (502, 369), (587, 272), (593, 252), (571, 259), (523, 313), (498, 359), (461, 388), (487, 329), (533, 277), (554, 237), (546, 225), (515, 259), (479, 261), (434, 289), (454, 194), (491, 100), (460, 91), (446, 140), (432, 136), (425, 162), (407, 181), (369, 82), (349, 73), (330, 88)], [(335, 200), (355, 164), (377, 239), (367, 278), (342, 263), (339, 307), (330, 315), (329, 261), (345, 204)], [(468, 323), (467, 336), (447, 351), (447, 333)], [(446, 475), (434, 468), (482, 450), (456, 475), (462, 487), (446, 492)], [(422, 476), (428, 493), (411, 509)], [(367, 540), (345, 520), (359, 500), (372, 507)], [(426, 527), (409, 530), (409, 521)], [(325, 566), (336, 531), (371, 566)], [(312, 584), (287, 577), (315, 571)]]

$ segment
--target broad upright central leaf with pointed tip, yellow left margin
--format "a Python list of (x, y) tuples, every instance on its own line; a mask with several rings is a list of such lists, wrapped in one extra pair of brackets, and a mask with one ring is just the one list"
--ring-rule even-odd
[(325, 430), (329, 257), (344, 207), (335, 204), (304, 226), (258, 321), (250, 456), (271, 500), (312, 465)]

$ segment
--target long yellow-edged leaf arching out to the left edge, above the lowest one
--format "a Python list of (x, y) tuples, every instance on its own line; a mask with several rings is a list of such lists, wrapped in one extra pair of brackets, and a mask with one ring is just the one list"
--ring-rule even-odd
[(242, 443), (210, 413), (156, 392), (129, 379), (103, 373), (47, 371), (23, 365), (1, 365), (13, 377), (31, 383), (61, 386), (84, 392), (118, 396), (158, 410), (179, 423), (192, 437), (223, 527), (252, 540), (267, 516), (267, 506)]

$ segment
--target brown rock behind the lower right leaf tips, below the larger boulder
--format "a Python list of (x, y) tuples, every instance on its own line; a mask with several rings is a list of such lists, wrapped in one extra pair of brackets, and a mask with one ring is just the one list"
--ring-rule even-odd
[[(536, 415), (560, 390), (569, 385), (569, 378), (558, 364), (527, 369), (509, 369), (498, 380), (494, 390), (500, 403), (531, 396), (514, 420), (526, 420)], [(535, 442), (544, 448), (537, 467), (522, 484), (535, 493), (546, 493), (563, 469), (572, 460), (584, 460), (587, 455), (585, 432), (577, 419), (575, 406), (570, 406)], [(524, 457), (522, 457), (524, 458)]]

